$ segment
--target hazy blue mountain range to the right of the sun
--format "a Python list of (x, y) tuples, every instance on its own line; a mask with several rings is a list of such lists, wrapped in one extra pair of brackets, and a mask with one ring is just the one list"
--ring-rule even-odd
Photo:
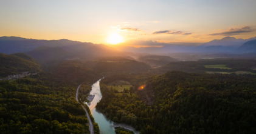
[[(201, 45), (180, 45), (154, 42), (154, 45), (161, 45), (162, 47), (131, 47), (121, 46), (119, 50), (134, 53), (230, 53), (230, 54), (243, 54), (243, 53), (256, 53), (256, 44), (251, 42), (250, 47), (243, 46), (249, 39), (236, 39), (234, 37), (225, 37), (223, 39), (214, 39), (213, 41), (203, 43)], [(143, 44), (143, 43), (142, 43)], [(137, 44), (140, 45), (140, 44)], [(243, 47), (242, 47), (243, 46)], [(243, 49), (241, 49), (243, 48)]]

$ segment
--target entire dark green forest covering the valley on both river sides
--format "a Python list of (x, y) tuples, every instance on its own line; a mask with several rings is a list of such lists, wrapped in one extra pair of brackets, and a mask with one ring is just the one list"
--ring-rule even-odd
[[(97, 110), (140, 133), (256, 133), (255, 59), (170, 62), (157, 68), (125, 58), (44, 66), (21, 53), (2, 54), (1, 61), (2, 77), (36, 72), (0, 81), (1, 133), (89, 133), (75, 92), (82, 84), (78, 98), (86, 101), (91, 85), (103, 77)], [(251, 73), (235, 73), (241, 71)], [(120, 83), (128, 85), (120, 90)], [(96, 122), (94, 133), (100, 133)], [(117, 128), (116, 133), (130, 132)]]

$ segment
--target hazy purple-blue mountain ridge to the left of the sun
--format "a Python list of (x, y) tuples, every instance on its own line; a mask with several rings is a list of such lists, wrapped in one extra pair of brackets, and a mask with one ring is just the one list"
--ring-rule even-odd
[(68, 39), (40, 40), (19, 37), (0, 37), (0, 53), (26, 53), (43, 64), (63, 59), (91, 60), (105, 56), (124, 55), (104, 44)]

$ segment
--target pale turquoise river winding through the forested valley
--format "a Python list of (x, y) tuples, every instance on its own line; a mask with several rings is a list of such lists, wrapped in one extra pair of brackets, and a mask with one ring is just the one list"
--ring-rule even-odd
[(95, 96), (94, 96), (94, 99), (92, 99), (91, 101), (91, 105), (88, 107), (91, 110), (91, 113), (92, 113), (92, 116), (94, 117), (95, 122), (99, 124), (100, 133), (114, 134), (115, 133), (114, 127), (117, 127), (117, 126), (132, 130), (134, 133), (139, 133), (131, 126), (128, 126), (126, 124), (117, 124), (115, 122), (110, 121), (105, 117), (105, 115), (103, 115), (102, 113), (96, 110), (95, 106), (100, 101), (100, 99), (102, 99), (102, 92), (100, 92), (100, 80), (95, 82), (92, 85), (92, 90), (90, 92), (90, 95), (95, 95)]

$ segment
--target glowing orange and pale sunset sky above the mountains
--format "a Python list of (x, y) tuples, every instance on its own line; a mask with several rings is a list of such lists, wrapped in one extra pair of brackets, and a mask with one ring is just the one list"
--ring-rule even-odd
[(0, 36), (96, 44), (113, 34), (123, 44), (247, 39), (256, 36), (255, 7), (255, 0), (0, 0)]

